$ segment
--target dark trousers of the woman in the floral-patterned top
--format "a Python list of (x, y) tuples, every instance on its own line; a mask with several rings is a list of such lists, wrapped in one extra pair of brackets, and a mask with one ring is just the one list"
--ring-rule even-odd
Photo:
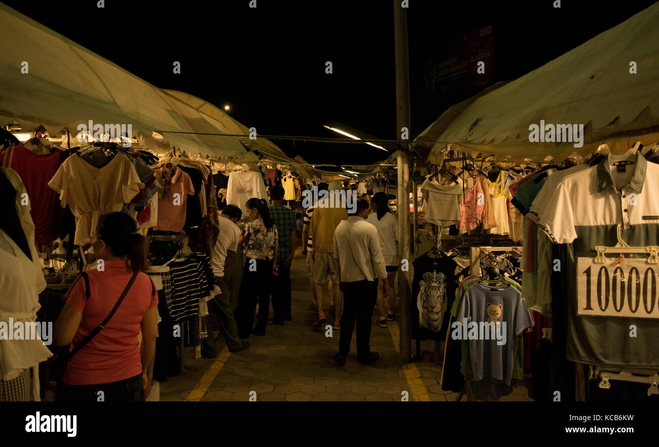
[(236, 322), (240, 338), (248, 338), (254, 324), (254, 313), (258, 301), (258, 321), (255, 332), (265, 334), (270, 311), (270, 290), (272, 288), (272, 260), (258, 260), (256, 264), (246, 258), (243, 280), (238, 292)]

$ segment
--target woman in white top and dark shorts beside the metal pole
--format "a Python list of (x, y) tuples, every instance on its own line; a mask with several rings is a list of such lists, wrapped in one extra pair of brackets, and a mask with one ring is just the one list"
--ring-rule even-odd
[(371, 198), (372, 214), (368, 215), (366, 222), (372, 223), (378, 229), (380, 237), (380, 248), (384, 256), (384, 264), (387, 268), (387, 281), (389, 281), (389, 297), (387, 298), (386, 317), (385, 317), (385, 299), (382, 290), (378, 288), (378, 324), (382, 328), (387, 327), (387, 320), (393, 321), (393, 309), (395, 305), (395, 283), (396, 271), (398, 270), (398, 219), (389, 210), (389, 198), (385, 193), (375, 193)]

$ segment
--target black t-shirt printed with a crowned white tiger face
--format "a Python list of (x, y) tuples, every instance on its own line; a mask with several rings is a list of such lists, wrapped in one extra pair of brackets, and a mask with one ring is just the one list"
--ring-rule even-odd
[[(410, 303), (410, 312), (412, 320), (412, 337), (416, 340), (445, 340), (446, 330), (449, 326), (450, 309), (455, 301), (455, 268), (457, 264), (451, 258), (444, 254), (438, 258), (431, 258), (428, 254), (422, 254), (412, 262), (414, 266), (414, 280), (412, 282), (412, 297)], [(440, 275), (443, 274), (444, 278)], [(424, 278), (424, 274), (430, 274)], [(423, 285), (421, 281), (423, 280)], [(419, 322), (418, 302), (419, 293), (423, 291), (424, 297), (431, 297), (436, 291), (445, 287), (447, 303), (444, 307), (445, 312), (442, 316), (442, 326), (438, 331), (431, 328), (424, 328)], [(422, 290), (423, 289), (423, 290)], [(432, 325), (431, 325), (432, 326)]]

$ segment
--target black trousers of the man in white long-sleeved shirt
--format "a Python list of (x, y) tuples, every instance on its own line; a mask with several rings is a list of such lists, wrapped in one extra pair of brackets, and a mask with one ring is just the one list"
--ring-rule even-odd
[(339, 352), (348, 355), (357, 321), (357, 357), (365, 359), (370, 353), (370, 328), (373, 309), (378, 298), (378, 281), (341, 282), (343, 317)]

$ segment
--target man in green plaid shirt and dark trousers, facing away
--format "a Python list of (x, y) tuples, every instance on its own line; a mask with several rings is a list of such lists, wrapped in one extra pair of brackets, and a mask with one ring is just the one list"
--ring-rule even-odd
[(291, 263), (297, 237), (295, 234), (295, 214), (281, 203), (284, 198), (282, 187), (270, 189), (270, 216), (279, 231), (279, 253), (277, 254), (277, 267), (279, 275), (274, 277), (272, 289), (272, 309), (274, 316), (270, 323), (284, 324), (284, 320), (291, 319)]

